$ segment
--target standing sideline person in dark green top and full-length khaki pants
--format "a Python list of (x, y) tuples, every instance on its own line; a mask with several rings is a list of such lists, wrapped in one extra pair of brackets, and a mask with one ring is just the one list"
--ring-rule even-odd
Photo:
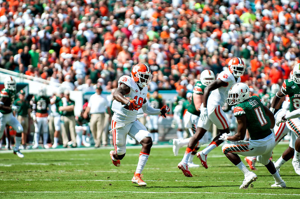
[[(76, 147), (76, 133), (75, 133), (75, 116), (74, 106), (75, 102), (70, 99), (70, 92), (65, 90), (64, 97), (59, 102), (59, 113), (61, 115), (61, 135), (63, 147)], [(70, 141), (69, 141), (70, 138)]]

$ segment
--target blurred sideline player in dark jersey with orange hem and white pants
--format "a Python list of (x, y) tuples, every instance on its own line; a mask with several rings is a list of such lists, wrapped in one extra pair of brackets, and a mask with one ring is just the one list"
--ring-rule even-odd
[(31, 118), (34, 123), (34, 145), (32, 146), (32, 149), (38, 148), (38, 140), (40, 132), (42, 131), (42, 137), (43, 137), (43, 147), (45, 149), (49, 149), (49, 146), (47, 145), (48, 142), (48, 105), (50, 104), (49, 97), (46, 96), (46, 90), (45, 88), (41, 87), (39, 88), (37, 95), (35, 95), (32, 100), (32, 112), (31, 112)]

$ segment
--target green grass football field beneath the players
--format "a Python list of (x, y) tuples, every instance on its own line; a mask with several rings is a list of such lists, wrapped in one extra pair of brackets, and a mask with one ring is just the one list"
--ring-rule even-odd
[[(277, 160), (286, 147), (287, 144), (277, 145), (273, 159)], [(221, 153), (220, 147), (208, 155), (208, 169), (191, 168), (193, 177), (187, 178), (177, 169), (184, 148), (174, 157), (171, 146), (155, 146), (143, 171), (147, 183), (143, 188), (131, 183), (140, 148), (127, 149), (119, 168), (110, 161), (111, 149), (30, 150), (22, 151), (23, 159), (11, 151), (0, 152), (0, 199), (300, 197), (300, 176), (294, 173), (291, 161), (280, 171), (288, 188), (271, 188), (273, 178), (264, 166), (257, 164), (258, 179), (253, 188), (239, 190), (243, 175)], [(195, 158), (194, 163), (200, 161)]]

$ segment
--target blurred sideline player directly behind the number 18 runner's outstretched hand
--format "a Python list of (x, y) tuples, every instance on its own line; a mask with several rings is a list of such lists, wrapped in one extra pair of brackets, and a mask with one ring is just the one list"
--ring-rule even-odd
[[(158, 91), (153, 91), (152, 96), (149, 99), (150, 106), (158, 109), (163, 106), (161, 95)], [(153, 144), (158, 143), (158, 115), (149, 115), (149, 120), (147, 122), (148, 130), (151, 133)]]

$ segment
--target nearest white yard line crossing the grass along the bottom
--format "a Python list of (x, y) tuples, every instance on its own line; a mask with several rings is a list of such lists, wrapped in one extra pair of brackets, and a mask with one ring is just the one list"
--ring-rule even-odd
[(236, 194), (236, 195), (262, 195), (262, 196), (300, 196), (300, 194), (268, 194), (268, 193), (226, 193), (226, 192), (0, 192), (0, 193), (20, 193), (20, 194), (73, 194), (73, 193), (133, 193), (133, 194)]

